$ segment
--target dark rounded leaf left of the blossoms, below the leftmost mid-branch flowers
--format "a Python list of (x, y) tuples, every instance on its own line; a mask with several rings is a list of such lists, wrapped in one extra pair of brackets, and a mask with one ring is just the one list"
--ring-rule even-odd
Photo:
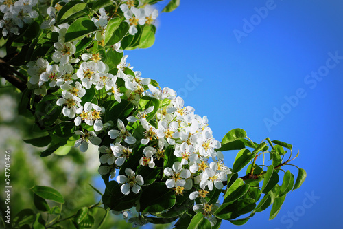
[(34, 116), (40, 126), (49, 127), (56, 122), (62, 113), (62, 107), (56, 105), (57, 96), (47, 95), (36, 106)]

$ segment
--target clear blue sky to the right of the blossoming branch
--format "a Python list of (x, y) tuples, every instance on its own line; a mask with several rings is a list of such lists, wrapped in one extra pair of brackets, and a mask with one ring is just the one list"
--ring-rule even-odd
[[(268, 208), (240, 228), (342, 228), (343, 60), (316, 87), (304, 80), (326, 64), (329, 52), (343, 56), (343, 2), (276, 0), (239, 43), (233, 30), (244, 31), (243, 20), (267, 2), (181, 1), (174, 12), (158, 17), (152, 47), (126, 52), (128, 63), (208, 116), (217, 140), (243, 128), (255, 142), (270, 137), (300, 150), (294, 164), (307, 171), (303, 186), (287, 195), (274, 220), (268, 221)], [(195, 75), (202, 81), (187, 83)], [(287, 106), (285, 96), (300, 88), (306, 97), (268, 129), (265, 118), (272, 120), (274, 107)], [(225, 157), (232, 166), (235, 153)], [(292, 166), (285, 169), (297, 174)], [(311, 202), (306, 193), (320, 199)], [(222, 223), (228, 227), (235, 226)]]

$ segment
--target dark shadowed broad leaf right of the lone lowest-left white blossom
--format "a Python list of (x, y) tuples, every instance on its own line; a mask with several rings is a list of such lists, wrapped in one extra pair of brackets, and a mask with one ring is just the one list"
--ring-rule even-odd
[(174, 206), (176, 197), (174, 190), (165, 186), (165, 182), (155, 182), (142, 189), (139, 199), (141, 212), (162, 212)]

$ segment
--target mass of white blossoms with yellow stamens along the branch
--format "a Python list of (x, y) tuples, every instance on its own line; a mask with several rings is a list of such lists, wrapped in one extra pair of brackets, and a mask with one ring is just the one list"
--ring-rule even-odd
[[(4, 36), (8, 32), (18, 34), (16, 26), (23, 27), (23, 23), (38, 17), (32, 10), (34, 4), (34, 0), (19, 0), (13, 5), (9, 1), (3, 2), (1, 12), (7, 16), (0, 25), (5, 26)], [(19, 8), (21, 12), (17, 12)], [(213, 138), (206, 116), (200, 117), (194, 113), (193, 107), (185, 106), (184, 100), (173, 89), (161, 89), (154, 80), (133, 71), (126, 62), (128, 56), (122, 54), (121, 41), (107, 50), (96, 48), (104, 46), (106, 40), (104, 34), (110, 17), (104, 8), (91, 19), (97, 31), (88, 34), (87, 38), (91, 37), (93, 41), (82, 52), (77, 48), (80, 39), (65, 39), (68, 23), (55, 26), (56, 9), (47, 8), (47, 20), (40, 28), (57, 32), (57, 42), (49, 58), (37, 58), (27, 63), (27, 73), (31, 76), (27, 83), (29, 89), (41, 96), (45, 96), (48, 90), (58, 96), (56, 105), (62, 107), (64, 116), (61, 120), (73, 121), (75, 135), (80, 135), (75, 146), (83, 152), (88, 150), (90, 143), (99, 146), (99, 173), (117, 180), (123, 195), (137, 195), (142, 186), (151, 184), (140, 174), (143, 169), (161, 169), (163, 166), (161, 180), (166, 188), (175, 195), (187, 193), (189, 199), (201, 201), (207, 209), (204, 215), (211, 221), (206, 194), (213, 188), (224, 187), (222, 182), (226, 181), (230, 169), (224, 165), (222, 153), (217, 151), (221, 144)], [(138, 25), (150, 26), (158, 16), (157, 10), (151, 6), (139, 8), (134, 1), (123, 1), (120, 9), (124, 21), (130, 25), (128, 33), (131, 35), (138, 32)], [(113, 66), (104, 61), (106, 52), (122, 57)], [(111, 120), (108, 109), (114, 103), (108, 105), (108, 102), (117, 105), (123, 100), (132, 111), (125, 118)], [(171, 154), (166, 155), (167, 151)], [(126, 162), (137, 154), (137, 167), (126, 167)], [(163, 164), (164, 161), (168, 163)], [(195, 206), (195, 211), (199, 206)]]

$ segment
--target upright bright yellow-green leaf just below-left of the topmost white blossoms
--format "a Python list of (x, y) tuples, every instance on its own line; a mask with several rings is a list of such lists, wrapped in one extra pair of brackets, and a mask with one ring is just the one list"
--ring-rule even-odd
[(120, 18), (110, 19), (105, 32), (106, 46), (114, 45), (123, 39), (128, 33), (130, 25), (126, 21), (121, 21)]

